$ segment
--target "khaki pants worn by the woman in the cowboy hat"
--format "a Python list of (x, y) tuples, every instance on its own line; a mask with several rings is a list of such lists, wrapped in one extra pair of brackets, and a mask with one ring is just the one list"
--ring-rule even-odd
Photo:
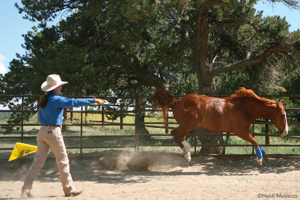
[(61, 136), (61, 128), (42, 125), (38, 132), (37, 141), (38, 151), (35, 152), (34, 162), (26, 174), (22, 192), (30, 194), (33, 181), (42, 169), (50, 148), (55, 155), (64, 194), (67, 195), (75, 191), (70, 174), (69, 159), (64, 145), (64, 139)]

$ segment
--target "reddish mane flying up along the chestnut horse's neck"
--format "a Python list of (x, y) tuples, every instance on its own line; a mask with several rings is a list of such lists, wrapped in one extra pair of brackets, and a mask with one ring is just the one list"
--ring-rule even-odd
[(257, 96), (252, 90), (246, 89), (246, 88), (240, 88), (239, 90), (235, 90), (235, 93), (231, 95), (231, 97), (237, 97), (242, 99), (251, 99), (258, 102), (262, 102), (265, 105), (272, 106), (273, 104), (276, 104), (275, 101), (270, 99), (264, 99), (259, 96)]

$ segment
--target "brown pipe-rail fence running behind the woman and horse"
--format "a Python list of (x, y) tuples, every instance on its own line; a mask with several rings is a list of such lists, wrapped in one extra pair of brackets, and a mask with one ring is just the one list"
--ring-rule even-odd
[[(213, 95), (214, 97), (226, 97), (228, 95)], [(21, 98), (22, 102), (22, 109), (21, 110), (0, 110), (0, 112), (19, 112), (22, 114), (21, 116), (21, 123), (20, 124), (0, 124), (0, 126), (19, 126), (21, 127), (21, 136), (1, 136), (0, 137), (0, 141), (6, 140), (6, 139), (20, 139), (21, 142), (23, 142), (23, 139), (29, 139), (29, 138), (36, 138), (36, 136), (24, 136), (24, 131), (23, 131), (23, 127), (25, 126), (40, 126), (40, 124), (25, 124), (24, 123), (24, 119), (23, 119), (23, 113), (25, 112), (31, 112), (31, 113), (38, 113), (38, 110), (24, 110), (24, 98), (39, 98), (41, 97), (41, 95), (0, 95), (1, 97), (13, 97), (13, 98)], [(134, 109), (133, 110), (83, 110), (83, 107), (81, 107), (81, 110), (65, 110), (65, 112), (70, 113), (71, 115), (71, 119), (72, 120), (78, 120), (80, 121), (80, 123), (72, 123), (72, 124), (65, 124), (65, 126), (79, 126), (80, 128), (80, 136), (63, 136), (64, 138), (79, 138), (80, 139), (80, 146), (77, 147), (66, 147), (67, 149), (80, 149), (80, 155), (82, 155), (82, 149), (97, 149), (97, 148), (134, 148), (135, 151), (139, 151), (139, 147), (148, 147), (148, 146), (177, 146), (175, 144), (142, 144), (139, 141), (139, 137), (140, 136), (149, 136), (149, 134), (140, 134), (139, 133), (139, 125), (143, 124), (145, 125), (145, 127), (152, 127), (152, 128), (162, 128), (166, 130), (166, 133), (168, 133), (169, 129), (174, 129), (176, 127), (170, 127), (169, 125), (174, 125), (177, 124), (176, 122), (167, 122), (167, 125), (163, 125), (163, 122), (140, 122), (139, 121), (139, 117), (138, 115), (140, 114), (140, 112), (157, 112), (159, 111), (158, 109), (145, 109), (145, 108), (140, 108), (139, 106), (139, 100), (140, 99), (145, 99), (145, 98), (149, 98), (149, 96), (138, 96), (136, 95), (135, 97), (98, 97), (98, 96), (65, 96), (65, 97), (71, 97), (71, 98), (101, 98), (101, 99), (133, 99), (135, 101), (135, 105), (132, 106)], [(174, 96), (174, 97), (182, 97), (182, 96)], [(300, 95), (262, 95), (260, 97), (300, 97)], [(113, 107), (117, 107), (118, 105), (115, 104), (110, 104), (109, 106), (113, 106)], [(286, 112), (300, 112), (300, 108), (286, 108), (285, 109)], [(172, 112), (172, 110), (170, 109), (170, 112)], [(80, 119), (78, 118), (73, 118), (73, 113), (80, 113), (81, 117)], [(101, 121), (94, 121), (94, 120), (90, 120), (90, 122), (93, 123), (83, 123), (84, 119), (83, 119), (83, 113), (96, 113), (96, 114), (101, 114), (102, 115), (102, 120)], [(111, 115), (113, 113), (127, 113), (126, 116), (132, 116), (135, 118), (134, 123), (123, 123), (123, 118), (120, 118), (120, 123), (116, 123), (116, 122), (108, 122), (108, 121), (104, 121), (104, 115)], [(145, 116), (145, 117), (149, 117), (149, 116)], [(173, 117), (168, 117), (168, 119), (173, 119)], [(255, 133), (254, 132), (254, 126), (255, 124), (265, 124), (266, 128), (265, 128), (265, 133)], [(261, 145), (261, 146), (265, 146), (265, 147), (300, 147), (300, 145), (286, 145), (286, 144), (281, 144), (281, 145), (272, 145), (270, 144), (270, 136), (275, 136), (275, 137), (281, 137), (279, 135), (273, 135), (270, 134), (270, 121), (266, 121), (266, 120), (256, 120), (253, 124), (252, 124), (252, 135), (253, 136), (265, 136), (265, 145)], [(300, 122), (288, 122), (289, 125), (300, 125)], [(83, 126), (120, 126), (120, 129), (123, 128), (123, 126), (133, 126), (135, 127), (135, 131), (134, 131), (134, 135), (97, 135), (97, 136), (84, 136), (82, 135), (82, 127)], [(150, 136), (171, 136), (170, 134), (150, 134)], [(188, 134), (187, 136), (193, 136), (194, 138), (196, 138), (196, 136), (233, 136), (233, 134), (230, 133), (218, 133), (218, 134)], [(291, 139), (300, 139), (300, 134), (289, 134), (289, 138)], [(82, 143), (82, 139), (84, 138), (105, 138), (105, 137), (111, 137), (111, 138), (134, 138), (134, 145), (129, 145), (129, 146), (84, 146)], [(194, 141), (196, 141), (194, 139)], [(224, 146), (224, 147), (251, 147), (251, 144), (247, 144), (247, 145), (226, 145), (226, 144), (221, 144), (221, 145), (207, 145), (207, 144), (196, 144), (196, 142), (194, 144), (191, 144), (191, 147), (194, 148), (194, 154), (196, 154), (196, 149), (197, 147), (208, 147), (208, 146)], [(253, 147), (253, 146), (252, 146)], [(13, 147), (11, 148), (0, 148), (1, 150), (12, 150)], [(213, 155), (220, 155), (220, 154), (197, 154), (197, 155), (201, 155), (201, 156), (213, 156)], [(225, 154), (228, 155), (228, 154)], [(230, 154), (231, 156), (241, 156), (244, 154)], [(254, 147), (252, 148), (252, 154), (246, 154), (248, 156), (253, 156), (254, 154)], [(269, 155), (273, 155), (273, 154), (269, 154)], [(283, 155), (283, 154), (274, 154), (274, 155)], [(297, 155), (299, 156), (300, 154), (284, 154), (284, 155), (288, 155), (288, 156), (294, 156)]]

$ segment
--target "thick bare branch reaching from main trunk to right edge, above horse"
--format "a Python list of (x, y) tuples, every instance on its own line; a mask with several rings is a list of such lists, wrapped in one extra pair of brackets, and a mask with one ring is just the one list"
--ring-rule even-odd
[(265, 61), (267, 58), (269, 58), (273, 53), (278, 52), (278, 51), (284, 51), (284, 52), (289, 52), (289, 51), (297, 51), (300, 52), (300, 43), (299, 42), (295, 42), (292, 44), (286, 44), (286, 45), (275, 45), (275, 46), (271, 46), (270, 48), (266, 49), (264, 52), (262, 52), (262, 54), (254, 57), (254, 58), (250, 58), (250, 59), (244, 59), (242, 61), (238, 61), (234, 64), (229, 64), (223, 67), (217, 67), (213, 70), (211, 70), (211, 74), (212, 75), (217, 75), (220, 73), (224, 73), (224, 72), (229, 72), (241, 67), (246, 67), (249, 65), (253, 65), (253, 64), (259, 64), (263, 61)]

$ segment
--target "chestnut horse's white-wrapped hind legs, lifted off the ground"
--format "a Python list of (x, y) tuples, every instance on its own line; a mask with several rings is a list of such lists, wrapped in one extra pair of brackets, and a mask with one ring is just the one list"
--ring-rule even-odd
[[(194, 128), (194, 127), (193, 127)], [(190, 144), (184, 139), (184, 136), (192, 130), (190, 126), (180, 124), (179, 127), (173, 129), (171, 134), (174, 136), (175, 142), (179, 145), (184, 153), (185, 163), (190, 162)]]

